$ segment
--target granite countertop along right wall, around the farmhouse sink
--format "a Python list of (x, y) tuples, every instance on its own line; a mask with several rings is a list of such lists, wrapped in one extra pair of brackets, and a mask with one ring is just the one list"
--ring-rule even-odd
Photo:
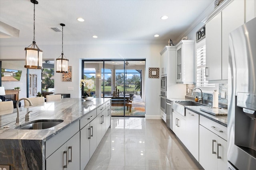
[[(180, 102), (180, 101), (192, 101), (194, 102), (194, 100), (188, 99), (188, 98), (167, 98), (170, 101), (173, 102)], [(201, 111), (200, 109), (206, 110), (206, 111), (210, 111), (212, 113), (215, 114), (227, 114), (228, 113), (228, 109), (210, 109), (210, 106), (184, 106), (185, 108), (194, 111), (196, 113), (198, 113), (199, 115), (202, 115), (204, 117), (207, 117), (208, 119), (211, 119), (217, 123), (220, 123), (221, 125), (224, 126), (228, 126), (228, 116), (215, 116), (212, 115), (210, 113), (206, 113), (204, 111)]]

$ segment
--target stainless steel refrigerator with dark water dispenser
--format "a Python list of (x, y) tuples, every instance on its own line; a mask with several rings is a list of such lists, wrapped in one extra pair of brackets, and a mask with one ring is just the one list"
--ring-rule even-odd
[(228, 169), (256, 168), (256, 18), (229, 34)]

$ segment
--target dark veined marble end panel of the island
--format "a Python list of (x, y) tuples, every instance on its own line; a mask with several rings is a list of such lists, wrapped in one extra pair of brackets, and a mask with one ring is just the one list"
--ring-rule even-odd
[(44, 145), (41, 140), (0, 139), (0, 164), (11, 170), (44, 170)]

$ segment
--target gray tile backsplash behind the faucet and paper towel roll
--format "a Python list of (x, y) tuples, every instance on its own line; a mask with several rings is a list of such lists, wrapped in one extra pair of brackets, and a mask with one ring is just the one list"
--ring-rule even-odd
[[(192, 90), (196, 87), (194, 84), (186, 85), (186, 97), (192, 96)], [(225, 98), (221, 98), (221, 92), (225, 92)], [(193, 97), (200, 98), (200, 92), (194, 92)], [(204, 104), (212, 106), (212, 94), (203, 92)], [(228, 84), (219, 84), (219, 106), (222, 108), (228, 108)]]

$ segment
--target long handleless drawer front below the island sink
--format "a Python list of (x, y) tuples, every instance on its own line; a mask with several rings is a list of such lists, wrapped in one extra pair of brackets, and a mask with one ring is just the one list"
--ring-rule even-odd
[(66, 143), (73, 135), (79, 131), (79, 121), (70, 125), (51, 139), (45, 142), (45, 158), (48, 158), (55, 150), (57, 150), (61, 145)]

